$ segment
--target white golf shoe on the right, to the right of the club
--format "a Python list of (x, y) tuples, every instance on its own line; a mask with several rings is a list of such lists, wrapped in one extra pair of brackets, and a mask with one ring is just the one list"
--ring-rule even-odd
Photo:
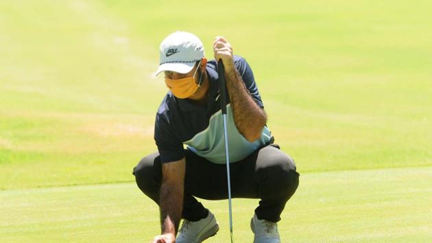
[(267, 220), (259, 220), (256, 214), (250, 220), (250, 229), (254, 232), (254, 243), (280, 243), (278, 224)]

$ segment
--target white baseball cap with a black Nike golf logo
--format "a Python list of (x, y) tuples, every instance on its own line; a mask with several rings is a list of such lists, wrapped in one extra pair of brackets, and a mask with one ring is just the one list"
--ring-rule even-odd
[(200, 38), (188, 32), (177, 31), (165, 38), (159, 47), (159, 68), (157, 76), (163, 71), (189, 73), (195, 62), (204, 58), (204, 47)]

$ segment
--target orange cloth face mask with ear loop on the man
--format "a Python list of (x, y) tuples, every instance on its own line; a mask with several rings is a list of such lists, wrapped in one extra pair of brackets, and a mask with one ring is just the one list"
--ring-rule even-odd
[(198, 68), (195, 70), (192, 77), (178, 78), (176, 80), (165, 77), (165, 84), (167, 84), (168, 89), (174, 96), (180, 99), (186, 99), (193, 95), (201, 86), (202, 75), (200, 77), (200, 82), (198, 84), (195, 82), (195, 74), (199, 68), (200, 65), (198, 64)]

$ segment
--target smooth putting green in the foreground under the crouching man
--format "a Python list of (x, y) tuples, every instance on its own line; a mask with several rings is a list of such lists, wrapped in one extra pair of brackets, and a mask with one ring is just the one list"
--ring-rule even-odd
[[(427, 242), (432, 167), (307, 173), (287, 204), (283, 242)], [(0, 192), (0, 242), (149, 242), (158, 208), (133, 183)], [(228, 202), (206, 201), (229, 242)], [(236, 242), (252, 242), (258, 200), (233, 200)]]

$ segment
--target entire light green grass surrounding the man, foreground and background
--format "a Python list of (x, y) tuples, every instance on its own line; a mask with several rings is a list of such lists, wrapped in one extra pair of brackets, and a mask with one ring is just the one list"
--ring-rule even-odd
[[(217, 35), (254, 70), (298, 193), (287, 242), (432, 238), (430, 1), (0, 1), (0, 242), (148, 242), (158, 45)], [(106, 184), (106, 185), (97, 185)], [(252, 241), (256, 200), (235, 200)], [(228, 242), (226, 201), (206, 202)], [(237, 207), (236, 207), (237, 206)], [(243, 242), (243, 241), (240, 241)]]

